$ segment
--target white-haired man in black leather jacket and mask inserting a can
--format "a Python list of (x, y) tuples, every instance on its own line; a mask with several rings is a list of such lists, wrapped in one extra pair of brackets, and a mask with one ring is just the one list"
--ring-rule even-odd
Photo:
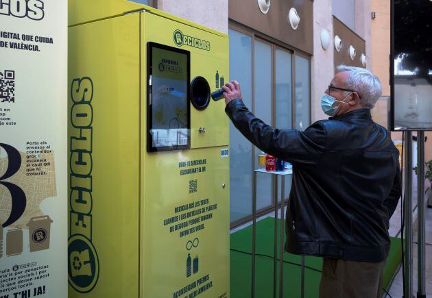
[(243, 136), (293, 164), (285, 250), (324, 257), (320, 297), (381, 297), (401, 183), (398, 149), (370, 114), (379, 79), (366, 69), (337, 67), (321, 99), (331, 117), (303, 132), (256, 118), (239, 83), (223, 88), (226, 114)]

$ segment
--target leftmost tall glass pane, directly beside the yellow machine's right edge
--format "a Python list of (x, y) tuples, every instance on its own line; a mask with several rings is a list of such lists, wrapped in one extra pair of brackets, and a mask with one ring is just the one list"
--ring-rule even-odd
[[(230, 29), (230, 78), (252, 107), (252, 38)], [(228, 79), (227, 79), (228, 81)], [(230, 121), (230, 221), (252, 214), (252, 145)]]

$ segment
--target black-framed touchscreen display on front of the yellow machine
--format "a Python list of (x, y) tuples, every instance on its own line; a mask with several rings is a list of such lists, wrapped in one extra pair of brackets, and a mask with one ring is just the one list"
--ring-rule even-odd
[(189, 52), (150, 45), (149, 151), (190, 147)]

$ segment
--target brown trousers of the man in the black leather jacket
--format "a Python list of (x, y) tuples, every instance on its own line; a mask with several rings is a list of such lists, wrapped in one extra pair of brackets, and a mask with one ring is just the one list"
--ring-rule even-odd
[(320, 298), (381, 298), (383, 262), (355, 262), (324, 258)]

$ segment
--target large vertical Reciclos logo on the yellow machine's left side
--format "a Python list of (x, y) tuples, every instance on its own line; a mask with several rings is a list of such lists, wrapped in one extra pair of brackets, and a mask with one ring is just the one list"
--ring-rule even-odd
[(95, 288), (99, 258), (92, 243), (93, 81), (73, 79), (69, 148), (69, 284), (80, 293)]

